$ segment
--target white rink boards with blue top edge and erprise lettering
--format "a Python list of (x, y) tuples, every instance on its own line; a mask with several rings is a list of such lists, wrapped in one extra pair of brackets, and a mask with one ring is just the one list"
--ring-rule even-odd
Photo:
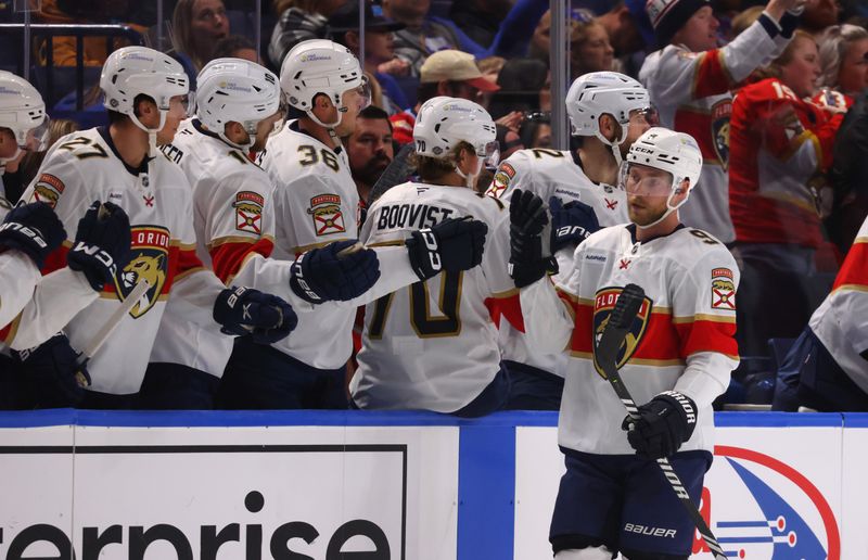
[[(540, 560), (557, 415), (0, 413), (0, 560)], [(731, 558), (868, 558), (868, 415), (717, 415)], [(353, 553), (355, 552), (355, 553)], [(711, 558), (694, 546), (695, 558)]]

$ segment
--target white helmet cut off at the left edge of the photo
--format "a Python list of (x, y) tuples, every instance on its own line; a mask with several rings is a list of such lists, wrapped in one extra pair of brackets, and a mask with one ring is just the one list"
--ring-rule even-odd
[(46, 103), (36, 88), (11, 72), (0, 71), (0, 128), (12, 130), (20, 150), (41, 152), (48, 148), (48, 126)]

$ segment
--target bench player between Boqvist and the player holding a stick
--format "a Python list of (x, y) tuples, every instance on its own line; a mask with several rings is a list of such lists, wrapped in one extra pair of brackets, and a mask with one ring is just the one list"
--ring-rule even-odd
[[(585, 74), (566, 93), (572, 135), (580, 147), (520, 150), (498, 167), (488, 195), (510, 200), (521, 189), (548, 202), (550, 251), (561, 275), (585, 238), (600, 227), (628, 221), (618, 170), (633, 142), (655, 122), (650, 107), (648, 91), (635, 79), (616, 72)], [(500, 346), (512, 382), (508, 408), (560, 408), (566, 357), (532, 352), (524, 334), (508, 322), (500, 326)]]

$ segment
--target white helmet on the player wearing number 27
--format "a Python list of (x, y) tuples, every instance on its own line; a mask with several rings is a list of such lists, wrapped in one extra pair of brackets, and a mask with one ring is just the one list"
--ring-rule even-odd
[[(181, 64), (148, 47), (124, 47), (105, 60), (100, 75), (100, 88), (105, 93), (103, 104), (129, 118), (142, 130), (155, 135), (166, 124), (171, 98), (187, 96), (190, 84)], [(156, 103), (159, 125), (145, 127), (136, 116), (136, 97), (144, 94)]]

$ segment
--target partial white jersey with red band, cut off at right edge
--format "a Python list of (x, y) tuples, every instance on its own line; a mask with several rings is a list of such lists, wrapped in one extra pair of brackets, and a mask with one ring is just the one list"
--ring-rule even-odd
[(808, 324), (841, 369), (868, 393), (868, 219), (838, 271), (832, 292)]

